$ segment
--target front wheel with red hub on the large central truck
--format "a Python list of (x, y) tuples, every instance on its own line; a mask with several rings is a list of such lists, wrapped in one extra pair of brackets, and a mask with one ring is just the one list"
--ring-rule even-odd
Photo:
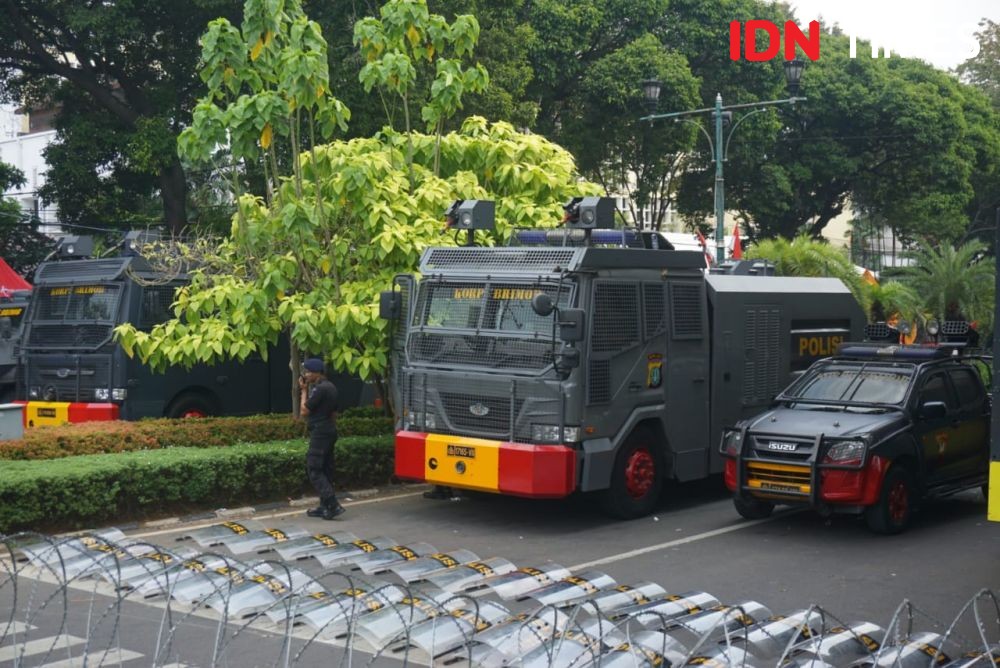
[(615, 457), (611, 487), (603, 497), (605, 511), (624, 520), (653, 512), (663, 491), (664, 468), (662, 449), (652, 434), (633, 432)]

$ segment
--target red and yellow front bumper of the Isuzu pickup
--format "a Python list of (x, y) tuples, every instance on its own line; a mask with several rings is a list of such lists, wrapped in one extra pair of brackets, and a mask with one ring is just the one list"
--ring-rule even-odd
[(878, 501), (888, 468), (889, 461), (878, 455), (869, 456), (860, 469), (728, 458), (724, 477), (730, 491), (775, 503), (863, 507)]

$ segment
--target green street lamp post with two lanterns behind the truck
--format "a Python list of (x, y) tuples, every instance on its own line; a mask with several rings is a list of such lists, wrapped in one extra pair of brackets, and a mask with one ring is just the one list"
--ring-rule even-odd
[[(766, 111), (769, 107), (774, 107), (780, 104), (795, 104), (805, 100), (804, 97), (798, 97), (799, 92), (799, 82), (802, 80), (802, 70), (805, 68), (805, 62), (799, 60), (798, 58), (794, 60), (785, 61), (785, 78), (788, 84), (789, 97), (783, 100), (767, 100), (765, 102), (751, 102), (747, 104), (731, 104), (725, 106), (722, 104), (722, 94), (717, 93), (715, 96), (715, 106), (706, 107), (704, 109), (692, 109), (690, 111), (674, 111), (668, 114), (650, 114), (648, 116), (643, 116), (640, 121), (656, 121), (663, 118), (672, 118), (675, 121), (683, 121), (693, 123), (690, 121), (688, 116), (696, 116), (698, 114), (704, 114), (711, 112), (712, 119), (715, 121), (715, 140), (705, 130), (704, 126), (700, 123), (695, 123), (699, 130), (708, 139), (709, 148), (712, 151), (712, 159), (715, 161), (715, 259), (716, 262), (721, 263), (726, 259), (726, 228), (725, 228), (725, 217), (726, 217), (726, 192), (725, 192), (725, 177), (723, 175), (722, 164), (726, 161), (726, 154), (729, 148), (729, 140), (732, 139), (733, 132), (739, 127), (740, 123), (745, 121), (750, 116)], [(655, 79), (647, 79), (642, 82), (643, 94), (646, 98), (646, 104), (649, 106), (650, 111), (656, 108), (657, 102), (660, 99), (660, 82)], [(723, 141), (723, 126), (726, 121), (732, 121), (733, 110), (736, 109), (748, 109), (749, 111), (729, 128), (729, 133), (725, 135), (725, 141)]]

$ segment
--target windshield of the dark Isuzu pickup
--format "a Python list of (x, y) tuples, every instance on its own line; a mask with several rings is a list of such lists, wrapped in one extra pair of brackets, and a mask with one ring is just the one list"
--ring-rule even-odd
[(899, 405), (906, 396), (911, 370), (905, 368), (826, 366), (807, 372), (786, 391), (784, 399), (837, 403)]

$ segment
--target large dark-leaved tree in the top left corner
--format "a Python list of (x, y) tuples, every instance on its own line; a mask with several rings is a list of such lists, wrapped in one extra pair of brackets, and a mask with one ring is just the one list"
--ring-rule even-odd
[[(74, 178), (89, 170), (115, 181), (119, 164), (125, 164), (130, 174), (146, 174), (155, 182), (125, 179), (115, 187), (99, 188), (98, 198), (115, 197), (117, 203), (98, 202), (85, 210), (133, 210), (126, 203), (130, 199), (158, 195), (163, 221), (174, 230), (183, 228), (188, 222), (187, 182), (174, 138), (194, 100), (198, 54), (191, 45), (206, 22), (233, 11), (232, 3), (137, 0), (91, 7), (62, 0), (2, 0), (0, 10), (4, 98), (42, 108), (62, 103), (60, 132), (74, 135), (67, 135), (70, 146), (78, 145), (87, 132), (86, 124), (69, 120), (72, 116), (115, 126), (113, 157), (85, 152), (74, 162), (72, 152), (59, 156), (61, 166), (73, 164), (75, 169), (61, 185), (62, 169), (50, 172), (56, 184), (53, 192), (62, 197), (75, 190), (79, 201), (92, 182), (80, 179), (74, 186)], [(64, 94), (64, 89), (71, 90)], [(101, 115), (114, 123), (94, 120)], [(76, 215), (76, 202), (57, 204), (68, 219)]]

